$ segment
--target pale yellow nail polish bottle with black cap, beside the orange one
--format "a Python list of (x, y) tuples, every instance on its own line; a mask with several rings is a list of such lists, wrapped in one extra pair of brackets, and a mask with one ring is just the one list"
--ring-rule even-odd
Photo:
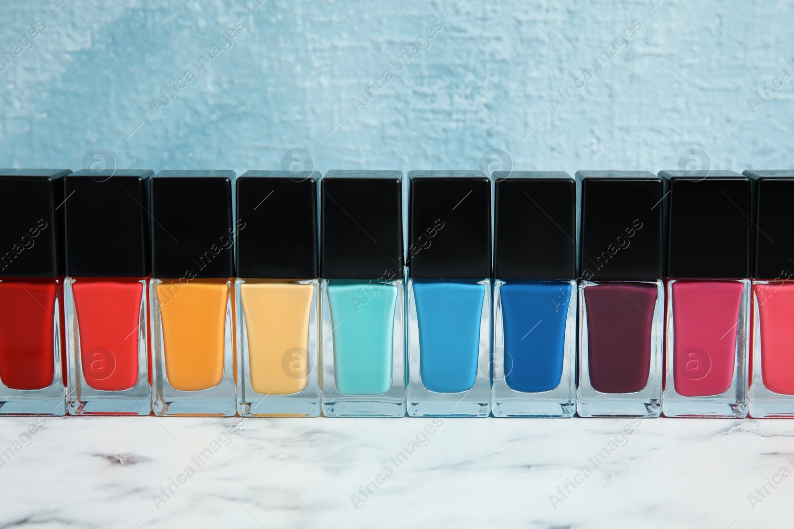
[(237, 412), (320, 415), (318, 172), (237, 178)]

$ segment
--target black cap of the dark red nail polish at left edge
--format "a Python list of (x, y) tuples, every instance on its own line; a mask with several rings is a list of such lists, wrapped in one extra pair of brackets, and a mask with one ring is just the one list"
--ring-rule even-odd
[(0, 278), (64, 274), (68, 169), (0, 169)]

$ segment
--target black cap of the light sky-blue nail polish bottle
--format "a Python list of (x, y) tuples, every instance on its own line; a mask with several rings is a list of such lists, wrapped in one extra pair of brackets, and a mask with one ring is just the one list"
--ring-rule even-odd
[(491, 277), (491, 180), (480, 171), (409, 171), (412, 278)]

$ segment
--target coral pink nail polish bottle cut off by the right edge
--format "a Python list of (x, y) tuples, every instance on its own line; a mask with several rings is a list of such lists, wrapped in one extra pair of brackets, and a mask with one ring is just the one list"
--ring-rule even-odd
[(750, 416), (794, 416), (794, 171), (745, 171), (757, 182), (751, 296)]

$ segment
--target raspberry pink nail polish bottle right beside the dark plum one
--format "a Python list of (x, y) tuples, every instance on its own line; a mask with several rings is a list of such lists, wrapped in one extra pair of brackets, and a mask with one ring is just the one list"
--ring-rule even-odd
[(664, 413), (744, 417), (752, 178), (661, 171), (669, 182)]

